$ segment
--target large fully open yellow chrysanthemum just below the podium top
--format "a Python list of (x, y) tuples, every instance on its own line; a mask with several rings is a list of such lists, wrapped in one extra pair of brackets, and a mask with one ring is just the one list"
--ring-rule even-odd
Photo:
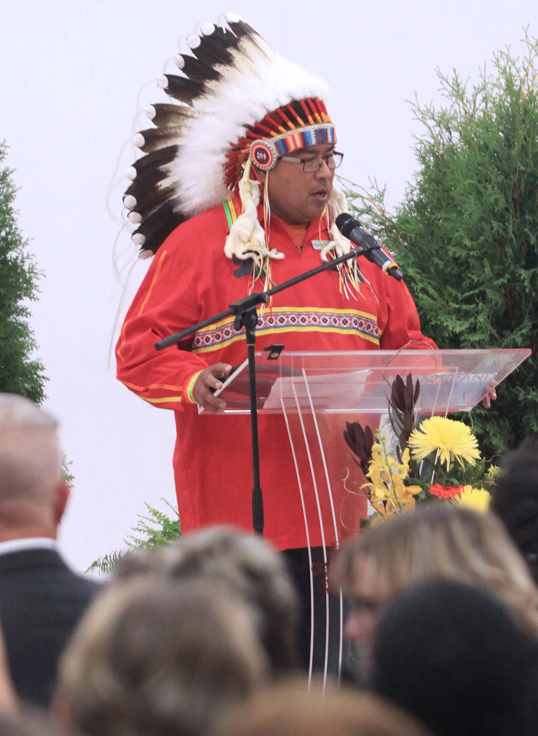
[(408, 444), (414, 460), (423, 460), (439, 450), (440, 461), (446, 463), (447, 470), (454, 460), (463, 464), (465, 459), (474, 465), (480, 459), (476, 436), (467, 425), (445, 417), (424, 420), (420, 428), (412, 431)]

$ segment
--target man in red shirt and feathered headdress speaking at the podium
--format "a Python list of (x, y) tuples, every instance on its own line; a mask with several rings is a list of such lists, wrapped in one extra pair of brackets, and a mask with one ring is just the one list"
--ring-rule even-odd
[[(174, 412), (182, 530), (217, 523), (248, 529), (249, 417), (198, 416), (198, 406), (223, 408), (212, 389), (245, 359), (243, 330), (234, 330), (231, 316), (179, 350), (157, 352), (154, 344), (351, 249), (335, 225), (346, 210), (333, 187), (342, 153), (323, 82), (273, 51), (243, 20), (227, 15), (220, 26), (203, 24), (187, 46), (174, 57), (179, 73), (158, 80), (169, 100), (148, 108), (153, 127), (134, 139), (143, 156), (132, 166), (123, 204), (137, 225), (132, 240), (153, 261), (123, 323), (118, 378)], [(360, 270), (348, 261), (274, 295), (258, 311), (257, 349), (435, 347), (420, 331), (403, 282), (361, 261)], [(299, 581), (309, 580), (321, 545), (334, 545), (337, 531), (318, 523), (307, 534), (282, 416), (260, 415), (259, 453), (265, 537), (287, 551)], [(311, 557), (308, 547), (317, 548)], [(325, 601), (324, 574), (315, 584), (316, 609), (318, 595)], [(304, 595), (309, 644), (309, 582)], [(323, 668), (318, 656), (323, 662), (325, 655), (323, 606), (323, 651), (315, 643), (314, 669)]]

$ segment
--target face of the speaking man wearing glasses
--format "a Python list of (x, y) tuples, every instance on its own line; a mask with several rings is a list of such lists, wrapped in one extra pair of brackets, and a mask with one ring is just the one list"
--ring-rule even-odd
[[(299, 160), (326, 156), (333, 151), (333, 144), (319, 144), (287, 155)], [(268, 177), (271, 213), (293, 224), (306, 224), (318, 218), (329, 201), (334, 169), (329, 169), (323, 161), (318, 171), (306, 173), (301, 163), (279, 160)]]

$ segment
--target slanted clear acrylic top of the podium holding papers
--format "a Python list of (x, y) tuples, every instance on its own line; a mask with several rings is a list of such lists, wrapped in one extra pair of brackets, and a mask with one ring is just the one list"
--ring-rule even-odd
[[(387, 411), (395, 375), (420, 378), (420, 414), (470, 411), (491, 381), (501, 383), (529, 355), (514, 350), (357, 350), (256, 353), (258, 411)], [(225, 413), (248, 414), (247, 361), (220, 392)]]

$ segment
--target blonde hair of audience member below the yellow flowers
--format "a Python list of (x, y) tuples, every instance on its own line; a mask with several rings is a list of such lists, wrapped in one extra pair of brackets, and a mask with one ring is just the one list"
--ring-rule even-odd
[(487, 590), (538, 637), (538, 589), (494, 514), (429, 503), (384, 520), (342, 547), (331, 581), (353, 595), (365, 563), (381, 601), (417, 581), (449, 578)]

